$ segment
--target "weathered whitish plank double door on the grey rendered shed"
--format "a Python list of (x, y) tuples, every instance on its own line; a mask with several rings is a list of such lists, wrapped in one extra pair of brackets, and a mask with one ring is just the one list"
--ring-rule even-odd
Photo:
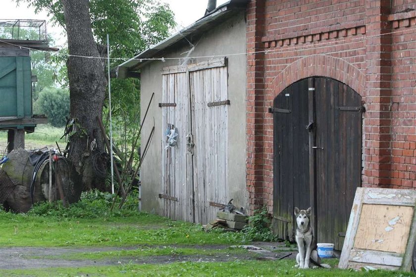
[(228, 199), (227, 60), (162, 70), (162, 128), (176, 128), (177, 144), (162, 140), (163, 215), (207, 223)]

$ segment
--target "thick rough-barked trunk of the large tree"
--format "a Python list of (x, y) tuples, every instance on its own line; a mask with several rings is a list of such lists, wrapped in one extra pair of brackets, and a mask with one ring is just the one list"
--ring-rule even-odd
[[(70, 54), (67, 60), (70, 116), (76, 120), (76, 132), (70, 136), (68, 159), (82, 176), (86, 172), (94, 172), (89, 161), (95, 154), (104, 152), (96, 116), (101, 118), (103, 114), (106, 78), (104, 63), (100, 59), (91, 28), (89, 0), (62, 0), (62, 6)], [(92, 151), (90, 146), (94, 140), (97, 148)], [(83, 180), (94, 179), (91, 177), (84, 175)]]

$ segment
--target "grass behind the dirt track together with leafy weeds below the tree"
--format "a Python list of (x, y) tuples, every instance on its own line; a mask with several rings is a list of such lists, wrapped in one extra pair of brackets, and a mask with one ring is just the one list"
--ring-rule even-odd
[[(0, 211), (0, 247), (5, 246), (134, 246), (205, 245), (241, 242), (240, 233), (213, 230), (202, 225), (172, 221), (137, 211), (137, 194), (131, 193), (123, 209), (110, 211), (112, 195), (83, 193), (81, 200), (62, 207), (61, 202), (40, 203), (28, 214)], [(120, 199), (118, 198), (118, 201)], [(117, 203), (115, 207), (117, 207)]]

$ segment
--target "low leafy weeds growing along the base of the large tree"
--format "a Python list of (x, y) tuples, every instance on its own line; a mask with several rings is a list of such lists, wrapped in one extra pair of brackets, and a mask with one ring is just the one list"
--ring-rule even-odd
[(29, 215), (51, 216), (55, 218), (109, 218), (125, 217), (138, 214), (138, 195), (130, 193), (121, 210), (118, 209), (120, 198), (117, 198), (114, 208), (110, 211), (113, 195), (108, 192), (90, 190), (81, 194), (81, 199), (77, 203), (63, 207), (61, 201), (40, 202), (28, 212)]

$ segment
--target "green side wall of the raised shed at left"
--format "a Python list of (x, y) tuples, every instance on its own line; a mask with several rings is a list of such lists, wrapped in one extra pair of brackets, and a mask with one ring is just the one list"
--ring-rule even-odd
[(0, 117), (32, 117), (29, 56), (0, 57)]

